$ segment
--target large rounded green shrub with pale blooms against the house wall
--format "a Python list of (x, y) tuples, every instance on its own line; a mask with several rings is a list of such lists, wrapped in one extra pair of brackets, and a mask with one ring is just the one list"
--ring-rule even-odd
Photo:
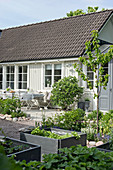
[(51, 103), (67, 109), (82, 96), (83, 88), (78, 86), (76, 77), (69, 76), (54, 83), (51, 93)]

